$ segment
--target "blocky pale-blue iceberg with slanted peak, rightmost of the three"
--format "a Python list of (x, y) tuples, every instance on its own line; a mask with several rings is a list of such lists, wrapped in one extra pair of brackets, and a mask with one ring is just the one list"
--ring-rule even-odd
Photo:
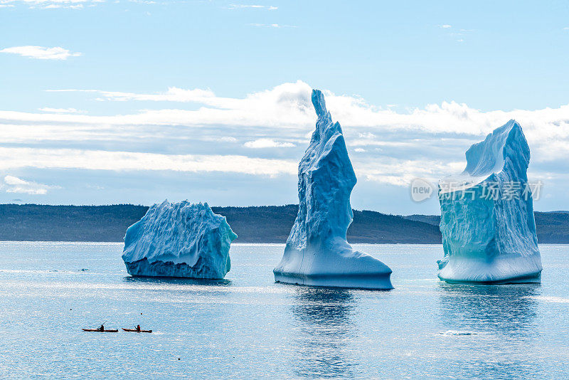
[(447, 282), (539, 283), (541, 256), (528, 184), (530, 152), (510, 120), (466, 152), (462, 174), (439, 182)]

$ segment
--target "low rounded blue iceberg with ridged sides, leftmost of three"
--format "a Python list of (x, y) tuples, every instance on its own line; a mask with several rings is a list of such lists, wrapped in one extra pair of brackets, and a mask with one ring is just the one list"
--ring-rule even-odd
[(208, 204), (164, 201), (127, 229), (122, 260), (130, 275), (221, 279), (235, 238)]

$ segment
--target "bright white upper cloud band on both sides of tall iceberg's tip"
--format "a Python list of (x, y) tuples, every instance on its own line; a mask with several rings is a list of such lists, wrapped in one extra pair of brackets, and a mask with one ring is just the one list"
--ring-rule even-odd
[[(74, 90), (68, 90), (74, 91)], [(88, 116), (46, 115), (28, 112), (0, 111), (0, 120), (44, 122), (73, 125), (227, 125), (235, 127), (289, 128), (309, 135), (314, 125), (314, 110), (310, 104), (311, 88), (307, 83), (285, 83), (271, 90), (252, 93), (244, 98), (217, 97), (211, 90), (169, 89), (162, 94), (136, 94), (87, 90), (105, 100), (196, 102), (197, 110), (166, 108), (142, 110), (131, 115)], [(325, 92), (326, 104), (334, 117), (346, 128), (357, 127), (352, 138), (373, 139), (384, 132), (425, 132), (437, 134), (467, 134), (483, 136), (511, 118), (523, 123), (526, 134), (547, 130), (566, 137), (569, 105), (543, 110), (514, 110), (511, 112), (482, 112), (456, 102), (427, 105), (410, 112), (381, 110), (368, 105), (361, 97), (335, 95)], [(4, 122), (6, 123), (6, 122)], [(281, 131), (282, 132), (282, 131)], [(349, 130), (348, 130), (349, 132)], [(374, 133), (380, 132), (380, 133)], [(547, 135), (547, 134), (546, 134)], [(545, 136), (543, 136), (545, 137)], [(268, 137), (270, 138), (270, 137)]]

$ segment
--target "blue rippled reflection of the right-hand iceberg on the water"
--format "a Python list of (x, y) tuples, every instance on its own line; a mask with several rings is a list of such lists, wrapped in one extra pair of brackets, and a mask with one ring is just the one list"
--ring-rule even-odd
[[(464, 378), (514, 379), (520, 374), (543, 373), (541, 361), (528, 360), (524, 354), (539, 339), (535, 297), (541, 295), (541, 284), (440, 283), (437, 291), (441, 320), (459, 332), (442, 337), (442, 349), (445, 344), (452, 347), (456, 339), (468, 342), (468, 354), (459, 363)], [(489, 359), (492, 350), (494, 358)]]

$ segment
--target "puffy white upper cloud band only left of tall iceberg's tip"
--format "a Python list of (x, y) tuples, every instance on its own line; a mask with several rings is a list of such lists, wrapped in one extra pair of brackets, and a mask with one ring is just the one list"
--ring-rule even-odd
[[(118, 125), (228, 125), (228, 126), (260, 126), (298, 128), (314, 123), (310, 92), (307, 83), (284, 83), (271, 90), (252, 93), (244, 98), (218, 97), (211, 90), (182, 90), (169, 88), (166, 93), (137, 94), (100, 90), (52, 90), (80, 91), (94, 93), (102, 100), (112, 101), (148, 101), (148, 102), (193, 102), (204, 105), (198, 110), (162, 109), (142, 110), (134, 115), (117, 115), (111, 117), (88, 117), (80, 115), (46, 115), (7, 114), (27, 121), (50, 120), (50, 122), (79, 122)], [(268, 124), (267, 124), (268, 122)]]

